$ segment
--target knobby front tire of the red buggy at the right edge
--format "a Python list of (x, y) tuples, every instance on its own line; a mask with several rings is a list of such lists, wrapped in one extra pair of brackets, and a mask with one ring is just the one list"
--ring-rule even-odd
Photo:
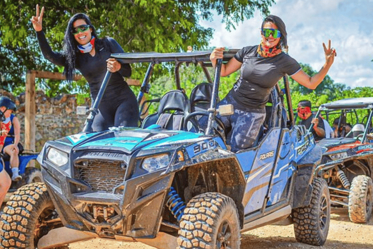
[(356, 176), (351, 183), (348, 196), (348, 216), (355, 223), (367, 223), (372, 216), (373, 183), (372, 178)]

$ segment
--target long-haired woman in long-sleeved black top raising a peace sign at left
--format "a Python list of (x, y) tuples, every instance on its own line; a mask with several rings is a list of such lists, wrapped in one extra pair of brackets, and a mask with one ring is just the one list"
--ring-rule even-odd
[(44, 57), (56, 65), (64, 66), (69, 82), (73, 79), (74, 70), (78, 69), (89, 84), (92, 102), (97, 97), (106, 71), (113, 73), (102, 97), (99, 113), (93, 121), (93, 131), (102, 131), (110, 126), (137, 126), (139, 114), (136, 96), (123, 79), (131, 76), (131, 66), (110, 58), (111, 53), (123, 53), (118, 42), (110, 37), (98, 38), (88, 16), (78, 13), (68, 21), (63, 53), (53, 52), (42, 30), (43, 14), (44, 7), (39, 15), (39, 6), (36, 5), (36, 16), (31, 21)]

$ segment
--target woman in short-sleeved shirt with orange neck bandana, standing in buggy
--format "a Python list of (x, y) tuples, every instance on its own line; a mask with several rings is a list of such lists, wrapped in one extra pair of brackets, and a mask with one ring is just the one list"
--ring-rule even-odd
[[(228, 143), (231, 150), (237, 152), (253, 146), (263, 125), (271, 89), (285, 75), (288, 74), (299, 84), (309, 89), (315, 89), (325, 77), (333, 64), (336, 51), (326, 48), (325, 64), (312, 77), (307, 75), (298, 62), (288, 54), (283, 53), (287, 48), (287, 33), (285, 23), (281, 18), (270, 15), (264, 19), (261, 27), (261, 43), (256, 46), (244, 47), (221, 65), (221, 76), (226, 76), (240, 69), (240, 76), (233, 88), (219, 103), (219, 105), (233, 104), (235, 113), (221, 117), (226, 128), (231, 129)], [(216, 60), (223, 57), (224, 48), (216, 48), (210, 55), (215, 67)]]

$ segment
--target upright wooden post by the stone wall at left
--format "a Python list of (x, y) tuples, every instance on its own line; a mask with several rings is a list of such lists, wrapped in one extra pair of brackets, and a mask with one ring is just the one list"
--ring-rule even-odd
[(25, 149), (35, 151), (35, 72), (26, 73)]

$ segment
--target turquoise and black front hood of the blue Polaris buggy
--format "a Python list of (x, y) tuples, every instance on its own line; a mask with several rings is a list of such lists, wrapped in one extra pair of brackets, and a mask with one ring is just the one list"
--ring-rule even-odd
[[(196, 144), (203, 141), (209, 142), (197, 149)], [(78, 133), (47, 142), (38, 161), (43, 168), (48, 165), (66, 173), (68, 168), (74, 166), (74, 161), (81, 157), (126, 161), (133, 157), (143, 158), (166, 153), (170, 158), (177, 154), (177, 150), (182, 150), (179, 156), (182, 155), (186, 160), (215, 147), (226, 148), (219, 137), (212, 138), (202, 133), (120, 127), (104, 132)], [(171, 163), (170, 160), (168, 163)], [(128, 163), (129, 161), (126, 162)]]

